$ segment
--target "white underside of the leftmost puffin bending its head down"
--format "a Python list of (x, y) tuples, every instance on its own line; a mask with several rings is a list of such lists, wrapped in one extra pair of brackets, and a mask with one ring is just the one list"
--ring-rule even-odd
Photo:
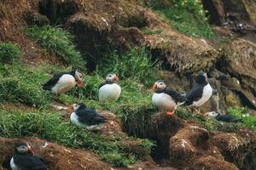
[(54, 94), (64, 94), (76, 85), (75, 78), (72, 75), (65, 74), (51, 89)]

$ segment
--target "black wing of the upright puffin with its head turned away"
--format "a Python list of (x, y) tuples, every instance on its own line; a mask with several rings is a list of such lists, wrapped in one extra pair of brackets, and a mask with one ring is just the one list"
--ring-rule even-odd
[(192, 105), (194, 101), (201, 99), (204, 86), (196, 84), (187, 95), (187, 100), (185, 105)]

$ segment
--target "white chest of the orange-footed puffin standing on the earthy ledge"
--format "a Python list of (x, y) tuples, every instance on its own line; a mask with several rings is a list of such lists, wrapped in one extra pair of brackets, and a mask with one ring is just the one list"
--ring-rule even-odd
[(172, 97), (168, 94), (156, 94), (154, 93), (152, 96), (153, 105), (157, 106), (162, 110), (172, 111), (177, 109), (176, 102), (172, 99)]

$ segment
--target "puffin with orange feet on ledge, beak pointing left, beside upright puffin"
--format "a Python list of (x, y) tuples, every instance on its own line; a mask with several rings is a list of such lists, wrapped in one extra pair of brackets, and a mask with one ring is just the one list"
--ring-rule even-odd
[(173, 115), (177, 107), (183, 105), (186, 101), (186, 94), (166, 88), (166, 84), (163, 81), (154, 82), (153, 90), (153, 105), (159, 109), (166, 110), (167, 115)]

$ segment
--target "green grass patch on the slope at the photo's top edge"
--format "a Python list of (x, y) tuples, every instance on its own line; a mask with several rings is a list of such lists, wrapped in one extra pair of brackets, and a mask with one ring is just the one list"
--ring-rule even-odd
[(161, 5), (160, 1), (154, 0), (150, 7), (170, 21), (177, 31), (192, 37), (214, 37), (202, 4), (195, 0), (174, 0), (169, 5)]

